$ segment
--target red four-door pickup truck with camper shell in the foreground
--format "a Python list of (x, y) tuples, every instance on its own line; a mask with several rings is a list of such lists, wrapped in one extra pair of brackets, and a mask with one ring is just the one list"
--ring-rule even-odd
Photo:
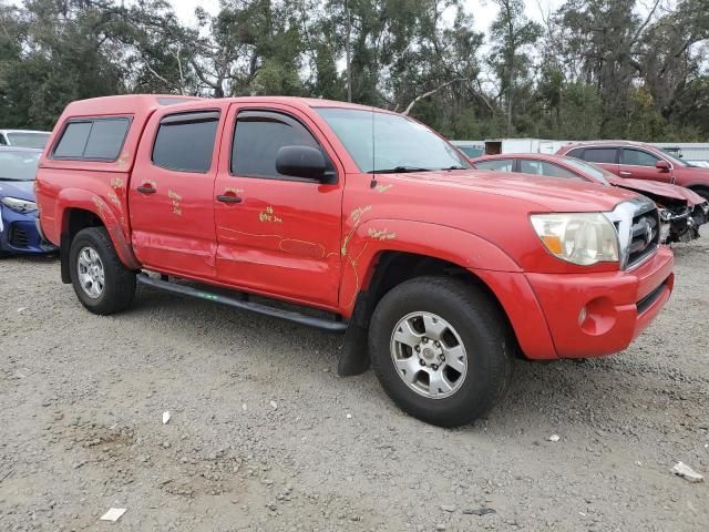
[(481, 173), (421, 123), (341, 102), (74, 102), (37, 198), (90, 311), (144, 284), (342, 331), (340, 375), (371, 360), (440, 426), (492, 408), (515, 356), (625, 349), (674, 282), (649, 200)]

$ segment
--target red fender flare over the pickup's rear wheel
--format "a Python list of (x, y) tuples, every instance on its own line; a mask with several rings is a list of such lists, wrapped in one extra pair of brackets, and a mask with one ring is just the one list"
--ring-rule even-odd
[(113, 247), (126, 268), (141, 269), (141, 264), (133, 254), (133, 249), (127, 237), (123, 233), (123, 228), (119, 223), (119, 218), (113, 212), (109, 203), (97, 194), (81, 188), (62, 188), (56, 197), (56, 211), (61, 213), (61, 234), (69, 235), (69, 216), (71, 208), (81, 208), (93, 213), (109, 232)]

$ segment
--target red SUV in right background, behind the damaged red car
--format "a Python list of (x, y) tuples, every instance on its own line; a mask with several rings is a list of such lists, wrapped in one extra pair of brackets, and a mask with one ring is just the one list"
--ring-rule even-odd
[(588, 161), (618, 177), (685, 186), (709, 200), (709, 168), (693, 166), (650, 144), (628, 141), (582, 142), (563, 146), (556, 154)]

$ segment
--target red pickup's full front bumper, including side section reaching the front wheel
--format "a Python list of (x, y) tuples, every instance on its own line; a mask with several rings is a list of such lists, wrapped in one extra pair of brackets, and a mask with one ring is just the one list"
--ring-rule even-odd
[(473, 269), (501, 303), (524, 356), (593, 358), (621, 351), (672, 291), (672, 252), (629, 270), (525, 274)]

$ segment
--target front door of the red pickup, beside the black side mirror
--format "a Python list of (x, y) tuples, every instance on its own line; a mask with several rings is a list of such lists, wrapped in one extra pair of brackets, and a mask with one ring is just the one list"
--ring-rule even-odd
[[(233, 104), (226, 124), (215, 184), (219, 279), (336, 308), (345, 172), (327, 139), (285, 104)], [(332, 182), (278, 173), (278, 151), (292, 145), (321, 150)]]

